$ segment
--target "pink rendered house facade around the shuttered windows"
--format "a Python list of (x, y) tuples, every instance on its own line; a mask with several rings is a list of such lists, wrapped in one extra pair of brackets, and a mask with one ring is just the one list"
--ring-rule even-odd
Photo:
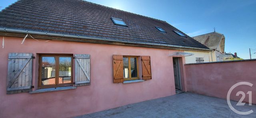
[[(176, 50), (81, 43), (73, 41), (40, 42), (27, 38), (4, 37), (0, 49), (0, 118), (68, 118), (126, 104), (175, 94), (172, 57)], [(0, 37), (2, 42), (2, 37)], [(33, 53), (32, 85), (38, 86), (38, 53), (90, 54), (91, 82), (72, 90), (30, 94), (6, 94), (8, 53)], [(138, 83), (113, 83), (112, 55), (147, 55), (151, 58), (152, 79)], [(180, 57), (182, 88), (186, 88), (184, 57)], [(141, 77), (141, 61), (139, 73)], [(74, 73), (74, 72), (73, 72)]]

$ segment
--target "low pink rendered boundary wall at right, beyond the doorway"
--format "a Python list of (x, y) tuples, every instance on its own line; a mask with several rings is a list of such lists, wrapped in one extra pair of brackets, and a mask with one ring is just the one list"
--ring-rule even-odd
[[(252, 104), (256, 104), (255, 67), (255, 60), (185, 65), (187, 91), (226, 99), (230, 87), (239, 82), (248, 82), (253, 84), (252, 87), (240, 85), (234, 88), (230, 99), (239, 101), (241, 95), (236, 96), (238, 91), (243, 91), (245, 94), (252, 91)], [(248, 94), (243, 102), (249, 102)]]

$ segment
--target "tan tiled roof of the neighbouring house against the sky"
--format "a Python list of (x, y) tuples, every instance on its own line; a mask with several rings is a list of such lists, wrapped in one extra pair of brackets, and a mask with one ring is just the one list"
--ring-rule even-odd
[(206, 47), (210, 49), (217, 49), (222, 39), (222, 36), (223, 34), (221, 33), (212, 32), (212, 33), (206, 33), (203, 35), (198, 35), (192, 38), (196, 39), (196, 41), (204, 44)]

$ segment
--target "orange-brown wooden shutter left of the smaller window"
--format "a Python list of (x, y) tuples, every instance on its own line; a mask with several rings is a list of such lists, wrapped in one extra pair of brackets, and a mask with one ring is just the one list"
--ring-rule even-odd
[(114, 83), (124, 82), (123, 55), (113, 55)]

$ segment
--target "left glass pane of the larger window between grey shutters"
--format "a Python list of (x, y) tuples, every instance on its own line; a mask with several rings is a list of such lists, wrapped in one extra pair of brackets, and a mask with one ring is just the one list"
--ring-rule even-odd
[(42, 85), (55, 84), (55, 57), (42, 57)]

